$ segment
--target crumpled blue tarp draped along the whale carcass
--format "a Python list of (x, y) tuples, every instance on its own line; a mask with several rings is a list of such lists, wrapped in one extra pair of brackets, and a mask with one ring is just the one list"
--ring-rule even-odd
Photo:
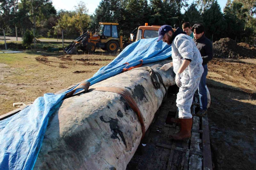
[[(100, 82), (140, 64), (171, 56), (171, 46), (157, 38), (142, 39), (127, 46), (111, 63), (100, 68), (89, 81)], [(124, 64), (128, 62), (129, 65)], [(75, 87), (74, 87), (75, 88)], [(33, 169), (48, 124), (70, 89), (61, 94), (46, 93), (19, 113), (0, 121), (0, 169)]]

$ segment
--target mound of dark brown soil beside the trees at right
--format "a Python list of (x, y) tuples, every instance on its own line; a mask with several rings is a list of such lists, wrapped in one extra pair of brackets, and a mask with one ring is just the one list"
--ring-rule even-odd
[(237, 44), (230, 38), (222, 38), (212, 46), (216, 58), (256, 58), (256, 50), (250, 49), (246, 43)]

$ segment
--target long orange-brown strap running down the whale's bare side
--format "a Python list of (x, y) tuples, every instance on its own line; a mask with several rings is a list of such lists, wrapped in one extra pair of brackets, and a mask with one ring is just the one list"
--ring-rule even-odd
[[(113, 93), (117, 93), (120, 94), (124, 100), (127, 102), (127, 104), (129, 104), (129, 106), (132, 108), (132, 110), (137, 114), (140, 124), (141, 124), (141, 131), (142, 131), (142, 138), (145, 135), (145, 124), (144, 124), (144, 120), (141, 114), (141, 111), (136, 103), (136, 101), (134, 100), (134, 98), (132, 97), (131, 93), (129, 91), (127, 91), (127, 89), (123, 89), (120, 87), (97, 87), (96, 89), (89, 89), (89, 91), (109, 91), (109, 92), (113, 92)], [(141, 139), (142, 139), (141, 138)]]

